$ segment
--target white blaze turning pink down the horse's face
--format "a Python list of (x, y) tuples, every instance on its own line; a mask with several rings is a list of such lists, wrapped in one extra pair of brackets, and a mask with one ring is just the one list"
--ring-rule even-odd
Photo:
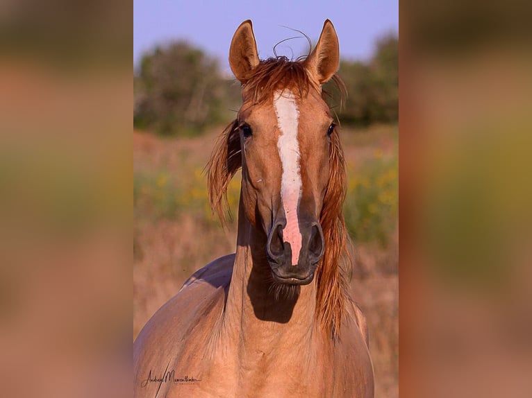
[(292, 248), (292, 266), (299, 261), (301, 250), (301, 231), (297, 220), (297, 206), (301, 196), (301, 173), (299, 168), (299, 142), (297, 141), (297, 124), (299, 110), (294, 94), (285, 89), (274, 94), (274, 108), (277, 125), (281, 130), (277, 147), (283, 166), (281, 177), (281, 202), (286, 217), (283, 241)]

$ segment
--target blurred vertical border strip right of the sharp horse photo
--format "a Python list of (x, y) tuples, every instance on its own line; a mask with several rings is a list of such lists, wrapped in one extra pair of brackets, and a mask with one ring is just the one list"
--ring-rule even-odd
[(532, 397), (530, 15), (401, 1), (405, 397)]

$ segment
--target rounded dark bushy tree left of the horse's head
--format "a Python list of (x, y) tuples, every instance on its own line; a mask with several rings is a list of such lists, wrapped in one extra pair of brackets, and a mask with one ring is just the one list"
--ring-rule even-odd
[(145, 54), (133, 87), (133, 125), (162, 135), (194, 135), (228, 120), (238, 93), (215, 58), (181, 41)]

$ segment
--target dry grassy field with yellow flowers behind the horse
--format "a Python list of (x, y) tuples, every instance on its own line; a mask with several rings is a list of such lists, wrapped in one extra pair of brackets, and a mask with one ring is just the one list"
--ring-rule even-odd
[[(219, 226), (203, 175), (217, 133), (160, 138), (133, 132), (133, 338), (184, 280), (234, 252), (236, 224)], [(354, 239), (351, 294), (367, 316), (376, 397), (399, 396), (397, 126), (342, 131), (349, 176), (344, 207)], [(229, 188), (235, 209), (238, 175)], [(235, 210), (233, 210), (235, 214)]]

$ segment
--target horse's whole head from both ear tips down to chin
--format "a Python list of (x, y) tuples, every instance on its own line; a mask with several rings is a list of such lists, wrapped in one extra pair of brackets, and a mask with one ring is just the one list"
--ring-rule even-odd
[[(319, 218), (334, 125), (321, 85), (338, 69), (334, 28), (325, 24), (304, 62), (287, 61), (285, 70), (268, 71), (258, 61), (251, 22), (244, 22), (233, 37), (229, 61), (243, 85), (238, 130), (245, 214), (267, 237), (265, 254), (274, 280), (309, 284), (324, 253)], [(264, 76), (257, 79), (256, 73)], [(269, 86), (269, 74), (282, 84)], [(254, 78), (265, 85), (253, 87)], [(265, 100), (257, 101), (257, 93)]]

